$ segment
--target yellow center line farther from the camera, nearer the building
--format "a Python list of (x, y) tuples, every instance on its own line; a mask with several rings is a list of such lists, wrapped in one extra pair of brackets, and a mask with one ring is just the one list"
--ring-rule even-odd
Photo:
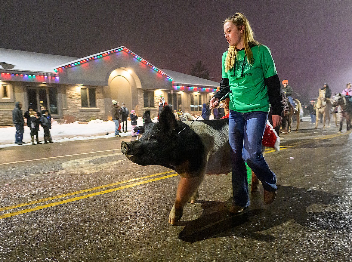
[(93, 187), (93, 188), (88, 188), (88, 189), (82, 189), (82, 190), (75, 191), (75, 192), (70, 192), (70, 193), (67, 193), (67, 194), (49, 196), (48, 198), (42, 198), (42, 199), (38, 199), (38, 200), (33, 200), (33, 201), (30, 201), (30, 202), (21, 203), (21, 204), (18, 204), (18, 205), (0, 207), (0, 212), (1, 211), (5, 211), (5, 210), (14, 209), (14, 208), (17, 208), (17, 207), (29, 206), (29, 205), (38, 204), (38, 203), (49, 201), (49, 200), (53, 200), (53, 199), (63, 198), (65, 196), (71, 196), (71, 195), (81, 194), (81, 193), (94, 191), (94, 190), (102, 189), (102, 188), (106, 188), (106, 187), (117, 186), (117, 185), (120, 185), (120, 184), (123, 184), (123, 183), (133, 182), (133, 181), (136, 181), (136, 180), (141, 180), (141, 179), (145, 179), (145, 178), (153, 177), (153, 176), (158, 176), (158, 175), (164, 175), (164, 174), (171, 173), (171, 172), (174, 172), (174, 170), (169, 170), (169, 171), (166, 171), (166, 172), (153, 174), (153, 175), (141, 176), (141, 177), (137, 177), (137, 178), (133, 178), (133, 179), (128, 179), (128, 180), (124, 180), (124, 181), (120, 181), (120, 182), (111, 183), (111, 184), (108, 184), (108, 185), (103, 185), (103, 186), (98, 186), (98, 187)]

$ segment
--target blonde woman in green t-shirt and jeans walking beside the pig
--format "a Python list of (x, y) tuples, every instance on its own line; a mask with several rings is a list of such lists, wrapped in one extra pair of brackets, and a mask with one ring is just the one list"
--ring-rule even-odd
[(249, 21), (236, 13), (223, 22), (225, 38), (230, 45), (222, 56), (220, 90), (210, 100), (230, 91), (229, 142), (231, 145), (233, 204), (230, 212), (243, 212), (250, 205), (245, 162), (254, 171), (264, 188), (264, 201), (276, 197), (276, 176), (262, 155), (262, 138), (272, 106), (272, 122), (282, 122), (282, 96), (270, 49), (254, 40)]

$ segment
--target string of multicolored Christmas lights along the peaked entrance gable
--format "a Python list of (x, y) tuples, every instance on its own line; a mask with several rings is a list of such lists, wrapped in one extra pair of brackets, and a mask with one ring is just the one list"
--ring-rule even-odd
[(86, 58), (86, 59), (83, 59), (83, 60), (80, 60), (80, 61), (77, 61), (75, 63), (71, 63), (71, 64), (67, 64), (65, 66), (62, 66), (62, 67), (59, 67), (59, 68), (56, 68), (54, 69), (55, 72), (60, 72), (60, 70), (63, 70), (65, 68), (69, 68), (69, 67), (74, 67), (74, 66), (77, 66), (79, 64), (82, 64), (82, 63), (86, 63), (88, 61), (91, 61), (91, 60), (95, 60), (95, 59), (99, 59), (101, 57), (104, 57), (104, 56), (108, 56), (110, 54), (113, 54), (113, 53), (116, 53), (116, 52), (121, 52), (121, 51), (124, 51), (126, 52), (127, 54), (133, 56), (134, 58), (136, 58), (139, 62), (149, 66), (151, 69), (153, 69), (154, 71), (156, 71), (158, 74), (161, 74), (163, 75), (166, 79), (172, 81), (173, 79), (168, 76), (167, 74), (165, 74), (163, 71), (161, 71), (160, 69), (158, 69), (157, 67), (153, 66), (151, 63), (149, 63), (148, 61), (144, 60), (142, 57), (134, 54), (131, 50), (128, 50), (127, 48), (125, 48), (124, 46), (118, 48), (118, 49), (114, 49), (114, 50), (110, 50), (108, 52), (104, 52), (104, 53), (101, 53), (99, 55), (96, 55), (96, 56), (92, 56), (92, 57), (89, 57), (89, 58)]

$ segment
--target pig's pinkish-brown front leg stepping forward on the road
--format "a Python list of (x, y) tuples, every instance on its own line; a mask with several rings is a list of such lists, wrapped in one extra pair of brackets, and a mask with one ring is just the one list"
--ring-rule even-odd
[(169, 223), (176, 224), (181, 219), (183, 207), (203, 181), (204, 174), (194, 178), (181, 177), (178, 183), (175, 204), (169, 215)]

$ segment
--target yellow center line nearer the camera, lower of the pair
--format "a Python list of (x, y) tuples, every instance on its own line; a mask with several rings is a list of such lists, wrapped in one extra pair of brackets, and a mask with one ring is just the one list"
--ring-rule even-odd
[(96, 195), (102, 195), (102, 194), (106, 194), (106, 193), (111, 193), (111, 192), (115, 192), (115, 191), (118, 191), (118, 190), (121, 190), (121, 189), (130, 188), (130, 187), (134, 187), (134, 186), (138, 186), (138, 185), (143, 185), (143, 184), (146, 184), (146, 183), (150, 183), (150, 182), (166, 179), (166, 178), (173, 177), (173, 176), (178, 176), (178, 174), (171, 174), (171, 175), (167, 175), (167, 176), (156, 177), (156, 178), (153, 178), (153, 179), (148, 179), (148, 180), (140, 181), (140, 182), (129, 184), (129, 185), (125, 185), (125, 186), (111, 188), (111, 189), (95, 192), (95, 193), (88, 194), (88, 195), (76, 196), (74, 198), (69, 198), (69, 199), (65, 199), (65, 200), (58, 201), (58, 202), (53, 202), (53, 203), (42, 205), (42, 206), (36, 206), (36, 207), (33, 207), (33, 208), (27, 208), (27, 209), (24, 209), (24, 210), (19, 210), (19, 211), (3, 214), (3, 215), (0, 215), (0, 219), (9, 218), (9, 217), (17, 216), (19, 214), (25, 214), (25, 213), (41, 210), (41, 209), (44, 209), (44, 208), (47, 208), (47, 207), (58, 206), (58, 205), (61, 205), (61, 204), (66, 204), (66, 203), (69, 203), (69, 202), (73, 202), (73, 201), (77, 201), (77, 200), (81, 200), (81, 199), (85, 199), (85, 198), (90, 198), (90, 197), (96, 196)]

